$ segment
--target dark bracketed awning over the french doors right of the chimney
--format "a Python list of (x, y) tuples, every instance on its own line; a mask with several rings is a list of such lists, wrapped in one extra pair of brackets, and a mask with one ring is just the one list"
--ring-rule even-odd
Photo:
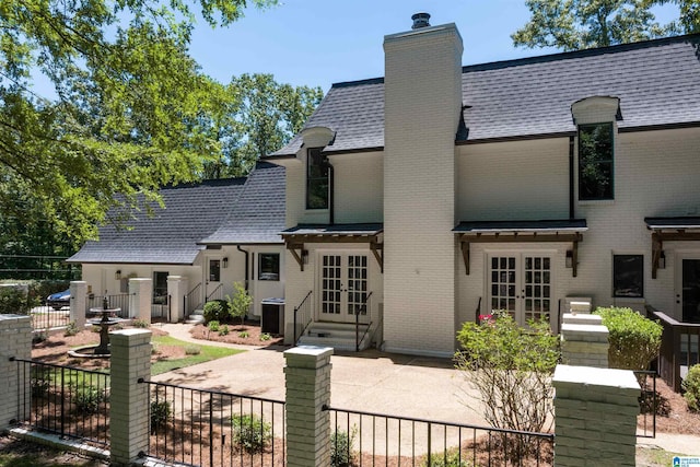
[(571, 242), (572, 273), (576, 277), (579, 242), (587, 231), (585, 219), (542, 221), (468, 221), (453, 229), (459, 235), (466, 273), (469, 275), (469, 245), (472, 243)]

